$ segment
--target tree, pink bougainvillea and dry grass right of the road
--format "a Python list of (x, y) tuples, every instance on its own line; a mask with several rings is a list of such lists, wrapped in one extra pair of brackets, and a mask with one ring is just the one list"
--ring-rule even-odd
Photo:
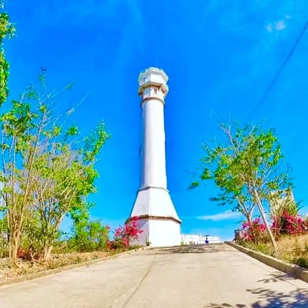
[(203, 145), (198, 179), (219, 188), (210, 201), (232, 206), (244, 221), (236, 241), (246, 247), (308, 267), (308, 219), (293, 199), (290, 167), (274, 129), (218, 123), (221, 142)]

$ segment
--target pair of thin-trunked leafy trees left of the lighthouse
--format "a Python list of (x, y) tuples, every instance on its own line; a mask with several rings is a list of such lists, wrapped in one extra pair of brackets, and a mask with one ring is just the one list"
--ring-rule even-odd
[[(2, 194), (13, 261), (27, 219), (30, 246), (41, 245), (44, 258), (50, 256), (65, 215), (82, 212), (87, 204), (85, 198), (95, 191), (98, 172), (94, 164), (109, 138), (103, 122), (87, 138), (80, 138), (78, 128), (66, 124), (73, 108), (64, 114), (54, 114), (62, 91), (48, 92), (45, 68), (40, 81), (42, 91), (28, 87), (1, 117), (0, 180), (4, 184)], [(64, 91), (70, 88), (68, 85)]]

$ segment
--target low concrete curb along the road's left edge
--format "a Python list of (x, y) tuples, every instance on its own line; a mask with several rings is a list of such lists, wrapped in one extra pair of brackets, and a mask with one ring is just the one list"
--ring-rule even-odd
[(111, 255), (111, 256), (108, 256), (108, 257), (100, 258), (100, 259), (89, 260), (89, 261), (82, 262), (82, 263), (75, 263), (75, 264), (71, 264), (71, 265), (67, 265), (67, 266), (63, 266), (63, 267), (48, 269), (47, 271), (31, 273), (31, 274), (28, 274), (28, 275), (9, 278), (7, 280), (0, 281), (0, 288), (3, 287), (3, 286), (6, 286), (6, 285), (10, 285), (10, 284), (16, 284), (16, 283), (26, 282), (26, 281), (30, 281), (30, 280), (34, 280), (34, 279), (38, 279), (38, 278), (52, 276), (52, 275), (59, 274), (59, 273), (62, 273), (62, 272), (70, 271), (71, 269), (86, 267), (86, 266), (90, 266), (90, 265), (93, 265), (93, 264), (105, 262), (105, 261), (108, 261), (108, 260), (111, 260), (111, 259), (116, 259), (116, 258), (119, 258), (121, 256), (129, 255), (129, 254), (132, 254), (134, 252), (142, 251), (142, 250), (145, 250), (145, 249), (146, 249), (145, 247), (140, 247), (140, 248), (136, 248), (136, 249), (131, 249), (130, 251), (127, 251), (127, 252)]

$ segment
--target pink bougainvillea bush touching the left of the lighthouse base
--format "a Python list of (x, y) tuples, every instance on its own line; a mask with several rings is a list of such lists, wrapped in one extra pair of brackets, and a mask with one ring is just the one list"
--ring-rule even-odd
[(110, 250), (127, 249), (132, 241), (138, 241), (140, 234), (143, 233), (138, 226), (138, 220), (135, 216), (124, 226), (115, 229), (113, 240), (109, 241), (108, 248)]

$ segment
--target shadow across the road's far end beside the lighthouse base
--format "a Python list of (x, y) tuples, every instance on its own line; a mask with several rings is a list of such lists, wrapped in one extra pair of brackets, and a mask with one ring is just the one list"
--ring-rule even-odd
[(174, 247), (161, 247), (152, 248), (150, 251), (155, 251), (155, 254), (206, 254), (206, 253), (219, 253), (233, 251), (234, 249), (223, 244), (213, 244), (213, 245), (185, 245), (185, 246), (174, 246)]

